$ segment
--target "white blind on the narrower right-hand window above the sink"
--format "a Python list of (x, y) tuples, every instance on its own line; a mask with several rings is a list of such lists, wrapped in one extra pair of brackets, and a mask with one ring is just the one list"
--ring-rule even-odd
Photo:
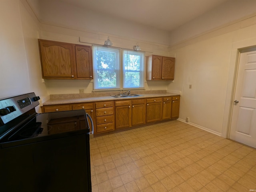
[(144, 53), (123, 50), (123, 88), (144, 88)]

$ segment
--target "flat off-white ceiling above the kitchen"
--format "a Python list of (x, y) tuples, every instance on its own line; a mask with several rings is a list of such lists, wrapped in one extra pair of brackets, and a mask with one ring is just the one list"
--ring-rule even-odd
[(228, 0), (54, 0), (172, 31)]

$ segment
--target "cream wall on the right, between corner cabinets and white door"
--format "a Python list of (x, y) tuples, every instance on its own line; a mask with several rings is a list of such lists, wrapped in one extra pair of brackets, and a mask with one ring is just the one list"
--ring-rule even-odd
[(189, 123), (226, 137), (236, 51), (256, 43), (243, 43), (235, 51), (234, 45), (255, 38), (256, 16), (170, 48), (176, 69), (168, 90), (182, 92), (181, 120), (188, 117)]

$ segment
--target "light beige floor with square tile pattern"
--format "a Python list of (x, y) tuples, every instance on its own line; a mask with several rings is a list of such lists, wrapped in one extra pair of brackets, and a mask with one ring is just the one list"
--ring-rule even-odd
[(180, 121), (90, 139), (92, 192), (249, 192), (256, 149)]

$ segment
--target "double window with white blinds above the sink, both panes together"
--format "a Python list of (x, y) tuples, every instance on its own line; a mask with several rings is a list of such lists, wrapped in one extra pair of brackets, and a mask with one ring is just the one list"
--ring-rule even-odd
[(92, 53), (94, 90), (144, 88), (144, 53), (99, 46)]

